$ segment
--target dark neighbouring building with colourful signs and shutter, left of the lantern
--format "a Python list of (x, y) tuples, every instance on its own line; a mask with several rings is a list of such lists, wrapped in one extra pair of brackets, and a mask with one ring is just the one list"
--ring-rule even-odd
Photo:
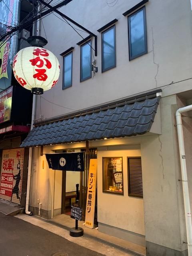
[[(33, 10), (27, 1), (0, 2), (0, 36)], [(18, 50), (28, 46), (24, 31), (32, 35), (33, 24), (0, 42), (0, 198), (26, 204), (28, 148), (20, 144), (30, 131), (32, 94), (22, 88), (12, 72)]]

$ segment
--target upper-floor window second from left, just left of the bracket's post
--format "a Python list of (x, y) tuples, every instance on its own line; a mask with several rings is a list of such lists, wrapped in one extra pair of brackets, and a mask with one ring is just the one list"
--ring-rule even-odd
[(91, 72), (91, 41), (89, 41), (81, 46), (81, 82), (91, 78)]

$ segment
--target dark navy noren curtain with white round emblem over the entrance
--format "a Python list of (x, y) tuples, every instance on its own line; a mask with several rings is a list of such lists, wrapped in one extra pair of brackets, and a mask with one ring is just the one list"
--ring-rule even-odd
[(45, 154), (50, 169), (62, 171), (84, 171), (83, 152)]

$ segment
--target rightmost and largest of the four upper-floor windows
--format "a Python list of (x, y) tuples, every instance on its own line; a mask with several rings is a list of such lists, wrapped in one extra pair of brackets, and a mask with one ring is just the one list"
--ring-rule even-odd
[(129, 60), (147, 53), (145, 6), (128, 16)]

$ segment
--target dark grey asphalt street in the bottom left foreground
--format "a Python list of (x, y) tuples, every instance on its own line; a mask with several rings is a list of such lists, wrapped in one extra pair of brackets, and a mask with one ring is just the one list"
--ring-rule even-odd
[[(28, 222), (0, 213), (0, 256), (102, 256)], [(65, 253), (65, 254), (61, 254)]]

